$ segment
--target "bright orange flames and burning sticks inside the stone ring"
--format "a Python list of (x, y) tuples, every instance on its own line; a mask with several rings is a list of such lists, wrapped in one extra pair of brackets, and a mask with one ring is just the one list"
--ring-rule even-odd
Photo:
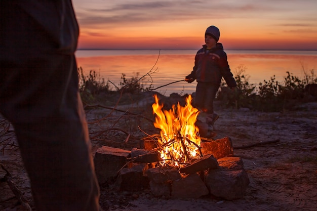
[(171, 166), (182, 166), (191, 160), (199, 158), (201, 138), (199, 129), (195, 126), (198, 109), (192, 107), (191, 96), (186, 98), (186, 105), (182, 107), (173, 105), (171, 110), (163, 110), (163, 104), (154, 95), (155, 103), (152, 105), (155, 115), (155, 128), (161, 129), (163, 162)]

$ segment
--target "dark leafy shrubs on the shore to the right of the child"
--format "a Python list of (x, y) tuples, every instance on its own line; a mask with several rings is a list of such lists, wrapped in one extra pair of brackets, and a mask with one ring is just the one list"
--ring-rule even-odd
[(316, 83), (317, 78), (313, 69), (310, 74), (305, 71), (305, 77), (300, 79), (290, 72), (284, 78), (284, 82), (276, 81), (275, 75), (270, 80), (259, 83), (256, 87), (249, 83), (249, 76), (245, 75), (246, 67), (241, 65), (234, 72), (237, 83), (235, 92), (230, 92), (222, 81), (221, 90), (217, 100), (226, 107), (247, 107), (259, 111), (283, 111), (292, 109), (296, 104), (305, 101), (305, 87)]

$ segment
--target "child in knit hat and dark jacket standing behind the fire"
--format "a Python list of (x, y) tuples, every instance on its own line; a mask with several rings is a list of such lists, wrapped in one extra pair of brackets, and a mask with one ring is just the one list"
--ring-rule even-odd
[(214, 112), (214, 99), (223, 77), (231, 89), (235, 89), (236, 81), (231, 73), (227, 55), (223, 46), (218, 43), (220, 31), (216, 26), (209, 26), (205, 32), (206, 45), (195, 56), (193, 70), (185, 77), (188, 83), (197, 81), (194, 106), (206, 113), (208, 130), (214, 130), (214, 123), (219, 115)]

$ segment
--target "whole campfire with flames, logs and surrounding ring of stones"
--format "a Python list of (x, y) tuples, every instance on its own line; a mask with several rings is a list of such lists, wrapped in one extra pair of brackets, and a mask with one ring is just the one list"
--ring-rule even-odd
[(227, 200), (243, 197), (249, 184), (240, 157), (233, 156), (229, 137), (206, 139), (195, 123), (200, 114), (186, 98), (164, 110), (154, 96), (155, 128), (160, 134), (143, 139), (144, 148), (99, 148), (94, 157), (100, 184), (117, 190), (150, 189), (153, 196), (199, 198), (208, 194)]

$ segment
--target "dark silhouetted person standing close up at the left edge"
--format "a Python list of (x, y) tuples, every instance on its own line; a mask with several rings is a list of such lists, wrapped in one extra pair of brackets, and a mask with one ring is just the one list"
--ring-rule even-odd
[(0, 112), (14, 126), (35, 209), (101, 210), (71, 0), (1, 1), (0, 31)]

